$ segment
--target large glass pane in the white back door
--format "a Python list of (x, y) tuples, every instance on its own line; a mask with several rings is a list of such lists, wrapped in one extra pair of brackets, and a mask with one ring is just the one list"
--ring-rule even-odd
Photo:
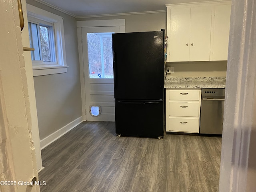
[(88, 33), (90, 78), (113, 78), (112, 34)]

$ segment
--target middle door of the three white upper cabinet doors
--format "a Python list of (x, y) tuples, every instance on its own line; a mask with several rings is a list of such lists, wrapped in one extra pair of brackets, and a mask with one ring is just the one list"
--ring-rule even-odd
[(210, 60), (212, 6), (192, 7), (190, 19), (190, 61)]

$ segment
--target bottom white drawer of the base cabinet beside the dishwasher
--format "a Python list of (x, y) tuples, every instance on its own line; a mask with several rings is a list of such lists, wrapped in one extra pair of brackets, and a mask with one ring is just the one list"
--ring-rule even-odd
[(169, 131), (199, 133), (199, 119), (169, 117)]

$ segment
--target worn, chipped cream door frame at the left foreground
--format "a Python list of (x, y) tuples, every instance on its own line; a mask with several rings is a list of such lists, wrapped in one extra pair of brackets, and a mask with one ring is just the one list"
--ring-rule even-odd
[(39, 185), (19, 185), (36, 177), (36, 152), (32, 138), (32, 110), (28, 70), (23, 56), (19, 9), (16, 0), (0, 2), (3, 16), (0, 55), (0, 161), (4, 173), (0, 191), (40, 192)]

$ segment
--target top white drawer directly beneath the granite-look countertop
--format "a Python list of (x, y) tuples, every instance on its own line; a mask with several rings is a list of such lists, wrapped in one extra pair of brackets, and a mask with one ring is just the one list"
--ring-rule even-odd
[(169, 90), (169, 100), (199, 100), (200, 90)]

